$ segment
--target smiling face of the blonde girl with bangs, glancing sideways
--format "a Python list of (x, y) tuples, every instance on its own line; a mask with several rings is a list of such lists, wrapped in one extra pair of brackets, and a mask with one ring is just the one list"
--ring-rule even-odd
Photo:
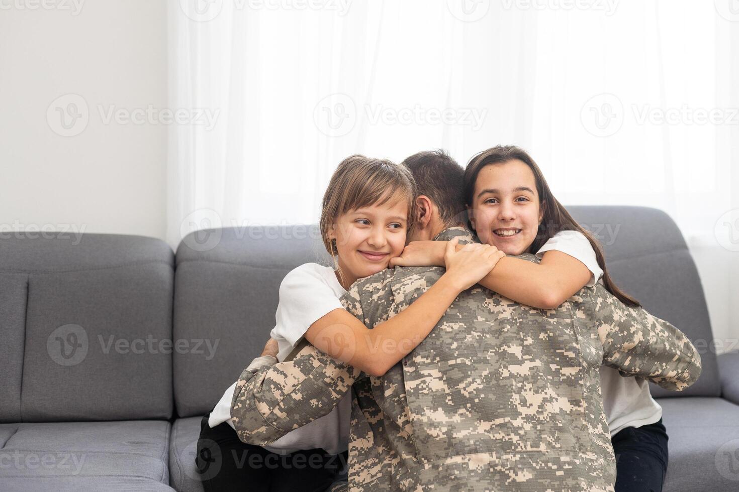
[(389, 265), (406, 245), (408, 202), (390, 200), (340, 215), (329, 238), (336, 239), (338, 266), (347, 288)]

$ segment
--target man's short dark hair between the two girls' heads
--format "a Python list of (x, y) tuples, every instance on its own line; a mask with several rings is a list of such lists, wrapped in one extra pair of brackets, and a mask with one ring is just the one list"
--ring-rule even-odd
[(415, 179), (418, 195), (426, 195), (439, 209), (446, 226), (466, 223), (464, 169), (444, 150), (425, 150), (403, 161)]

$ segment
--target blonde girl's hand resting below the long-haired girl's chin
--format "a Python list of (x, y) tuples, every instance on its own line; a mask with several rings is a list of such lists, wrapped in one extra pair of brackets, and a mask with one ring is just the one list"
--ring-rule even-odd
[(498, 260), (505, 256), (504, 252), (489, 244), (466, 244), (457, 251), (457, 243), (459, 238), (446, 243), (444, 275), (452, 280), (460, 292), (480, 282), (490, 273)]

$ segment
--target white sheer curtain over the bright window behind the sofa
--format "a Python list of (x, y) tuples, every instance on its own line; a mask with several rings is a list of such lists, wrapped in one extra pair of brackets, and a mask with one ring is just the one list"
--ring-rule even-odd
[(168, 241), (314, 223), (352, 153), (465, 164), (513, 143), (565, 204), (670, 213), (717, 338), (736, 337), (739, 16), (722, 2), (173, 2), (170, 106), (218, 117), (172, 128)]

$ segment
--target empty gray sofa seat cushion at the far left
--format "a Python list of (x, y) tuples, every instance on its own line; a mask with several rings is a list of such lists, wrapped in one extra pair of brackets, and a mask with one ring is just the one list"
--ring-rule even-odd
[(170, 429), (165, 420), (0, 424), (0, 490), (18, 479), (38, 484), (27, 490), (86, 490), (95, 480), (96, 490), (113, 490), (113, 477), (121, 487), (129, 479), (168, 485)]

